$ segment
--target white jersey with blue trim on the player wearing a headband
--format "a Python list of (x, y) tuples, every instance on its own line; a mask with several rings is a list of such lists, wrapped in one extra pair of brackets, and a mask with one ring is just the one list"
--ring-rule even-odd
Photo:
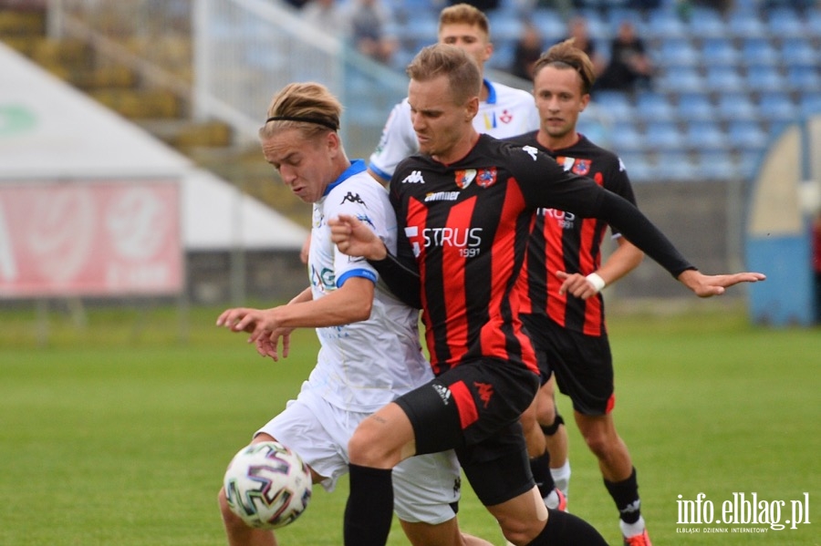
[(371, 412), (433, 374), (421, 352), (419, 311), (390, 294), (366, 260), (339, 252), (331, 241), (327, 220), (339, 214), (356, 216), (396, 252), (397, 223), (388, 191), (356, 160), (314, 203), (308, 273), (315, 300), (351, 277), (369, 279), (376, 283), (373, 308), (368, 320), (317, 328), (322, 347), (303, 389), (318, 389), (336, 407)]

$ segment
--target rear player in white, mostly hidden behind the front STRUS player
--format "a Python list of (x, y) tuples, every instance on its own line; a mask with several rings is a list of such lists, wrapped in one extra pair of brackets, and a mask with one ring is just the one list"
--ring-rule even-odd
[[(493, 55), (487, 17), (469, 4), (450, 5), (439, 15), (439, 43), (457, 46), (476, 60), (483, 71)], [(533, 95), (483, 78), (479, 112), (473, 118), (476, 132), (497, 139), (514, 137), (539, 128)], [(370, 156), (370, 173), (387, 184), (397, 164), (419, 151), (411, 124), (411, 106), (405, 98), (390, 111), (377, 149)]]

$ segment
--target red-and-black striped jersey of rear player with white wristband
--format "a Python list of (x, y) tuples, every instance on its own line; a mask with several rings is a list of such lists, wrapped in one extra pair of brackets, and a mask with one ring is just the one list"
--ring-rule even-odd
[[(624, 165), (618, 156), (583, 135), (565, 149), (550, 150), (536, 140), (536, 131), (511, 139), (517, 145), (533, 146), (546, 152), (565, 170), (596, 181), (605, 190), (636, 204)], [(525, 265), (519, 279), (522, 288), (520, 312), (547, 315), (556, 324), (585, 335), (606, 332), (604, 298), (582, 300), (559, 294), (563, 281), (556, 271), (587, 275), (601, 265), (601, 242), (608, 223), (597, 218), (580, 218), (557, 209), (539, 209), (531, 223)], [(613, 236), (618, 230), (613, 229)]]

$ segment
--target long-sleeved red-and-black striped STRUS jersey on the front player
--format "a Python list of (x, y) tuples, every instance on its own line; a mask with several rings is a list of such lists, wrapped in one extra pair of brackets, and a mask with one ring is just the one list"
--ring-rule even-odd
[(536, 371), (515, 285), (540, 207), (617, 220), (630, 241), (670, 273), (691, 268), (628, 201), (533, 147), (487, 135), (449, 165), (423, 155), (401, 161), (390, 201), (400, 231), (397, 260), (415, 265), (419, 277), (415, 285), (408, 276), (391, 283), (379, 273), (398, 295), (419, 292), (435, 374), (478, 357)]

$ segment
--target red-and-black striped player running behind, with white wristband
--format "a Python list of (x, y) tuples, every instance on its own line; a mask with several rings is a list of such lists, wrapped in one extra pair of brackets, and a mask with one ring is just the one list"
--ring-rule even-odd
[[(590, 177), (635, 204), (618, 157), (577, 132), (578, 116), (587, 107), (594, 80), (592, 62), (572, 39), (552, 46), (534, 67), (540, 127), (511, 140), (546, 152), (565, 170)], [(636, 470), (613, 421), (613, 362), (600, 294), (605, 284), (638, 267), (644, 254), (611, 229), (618, 249), (601, 263), (607, 230), (605, 221), (539, 209), (519, 277), (523, 291), (519, 312), (535, 346), (543, 381), (555, 373), (559, 389), (573, 401), (578, 428), (598, 458), (605, 486), (618, 508), (624, 543), (650, 546)], [(555, 420), (550, 384), (539, 390), (535, 414), (535, 419), (523, 419), (526, 438)], [(545, 470), (534, 468), (534, 475), (540, 471)]]

